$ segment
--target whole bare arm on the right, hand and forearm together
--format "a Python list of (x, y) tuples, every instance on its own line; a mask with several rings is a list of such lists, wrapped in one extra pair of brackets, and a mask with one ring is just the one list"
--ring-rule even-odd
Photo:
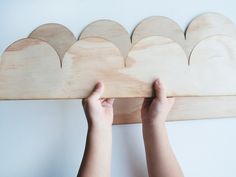
[(149, 177), (183, 177), (165, 128), (174, 98), (166, 97), (159, 80), (154, 82), (154, 92), (154, 98), (144, 100), (141, 111)]

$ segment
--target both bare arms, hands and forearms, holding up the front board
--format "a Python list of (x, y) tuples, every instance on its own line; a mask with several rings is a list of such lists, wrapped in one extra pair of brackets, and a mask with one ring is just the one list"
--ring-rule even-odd
[[(101, 98), (103, 91), (104, 85), (98, 83), (91, 95), (83, 99), (89, 130), (78, 177), (109, 177), (111, 174), (114, 99)], [(159, 80), (154, 82), (153, 91), (154, 97), (145, 98), (141, 109), (148, 174), (150, 177), (183, 177), (164, 126), (174, 98), (167, 98)]]

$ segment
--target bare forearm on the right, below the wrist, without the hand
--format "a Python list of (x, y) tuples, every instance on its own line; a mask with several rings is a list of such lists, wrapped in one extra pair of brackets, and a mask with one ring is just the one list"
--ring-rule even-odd
[(183, 177), (164, 124), (143, 124), (149, 177)]

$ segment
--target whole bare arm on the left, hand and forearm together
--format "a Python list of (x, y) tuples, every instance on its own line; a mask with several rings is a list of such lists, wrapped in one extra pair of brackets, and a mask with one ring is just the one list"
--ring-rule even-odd
[(83, 100), (88, 134), (77, 177), (109, 177), (111, 173), (113, 99), (101, 99), (104, 85), (98, 83)]

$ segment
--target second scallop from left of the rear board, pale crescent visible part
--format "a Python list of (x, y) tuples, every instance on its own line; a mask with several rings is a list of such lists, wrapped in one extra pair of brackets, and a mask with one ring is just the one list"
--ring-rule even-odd
[(98, 20), (90, 23), (81, 32), (80, 39), (86, 37), (101, 37), (114, 43), (126, 57), (131, 48), (130, 36), (125, 28), (112, 20)]

